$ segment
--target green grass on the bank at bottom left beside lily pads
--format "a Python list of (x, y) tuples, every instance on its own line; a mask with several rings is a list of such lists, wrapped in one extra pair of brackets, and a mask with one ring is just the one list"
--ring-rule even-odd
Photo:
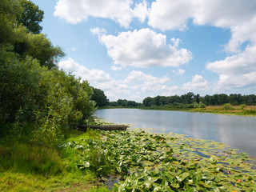
[[(74, 132), (64, 142), (98, 139), (98, 134)], [(0, 144), (0, 191), (109, 191), (94, 170), (79, 170), (75, 150), (42, 146), (11, 138)]]

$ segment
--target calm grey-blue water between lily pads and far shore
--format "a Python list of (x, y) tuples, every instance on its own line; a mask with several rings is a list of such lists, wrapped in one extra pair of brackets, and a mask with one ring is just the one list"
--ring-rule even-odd
[(186, 134), (190, 138), (222, 142), (256, 157), (256, 118), (219, 114), (200, 114), (166, 110), (97, 110), (98, 118), (129, 123), (154, 133)]

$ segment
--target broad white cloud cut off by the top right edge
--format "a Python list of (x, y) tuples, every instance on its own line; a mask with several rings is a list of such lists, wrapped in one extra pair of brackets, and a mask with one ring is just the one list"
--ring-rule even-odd
[(255, 10), (254, 0), (156, 0), (148, 24), (160, 30), (185, 30), (192, 19), (196, 25), (230, 28), (253, 18)]

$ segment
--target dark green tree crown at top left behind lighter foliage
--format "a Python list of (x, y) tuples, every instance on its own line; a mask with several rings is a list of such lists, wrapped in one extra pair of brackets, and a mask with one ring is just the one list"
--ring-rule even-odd
[(28, 32), (40, 34), (42, 26), (40, 26), (39, 23), (42, 22), (44, 18), (44, 12), (30, 0), (20, 0), (20, 5), (23, 11), (21, 16), (17, 19), (18, 25), (22, 24), (25, 26)]

